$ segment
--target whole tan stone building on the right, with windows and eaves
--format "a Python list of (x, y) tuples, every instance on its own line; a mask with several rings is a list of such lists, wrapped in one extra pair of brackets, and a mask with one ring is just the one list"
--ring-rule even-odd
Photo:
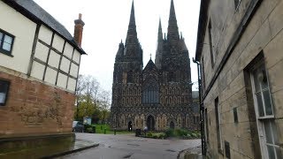
[(195, 60), (209, 158), (282, 158), (282, 14), (279, 0), (202, 0)]

